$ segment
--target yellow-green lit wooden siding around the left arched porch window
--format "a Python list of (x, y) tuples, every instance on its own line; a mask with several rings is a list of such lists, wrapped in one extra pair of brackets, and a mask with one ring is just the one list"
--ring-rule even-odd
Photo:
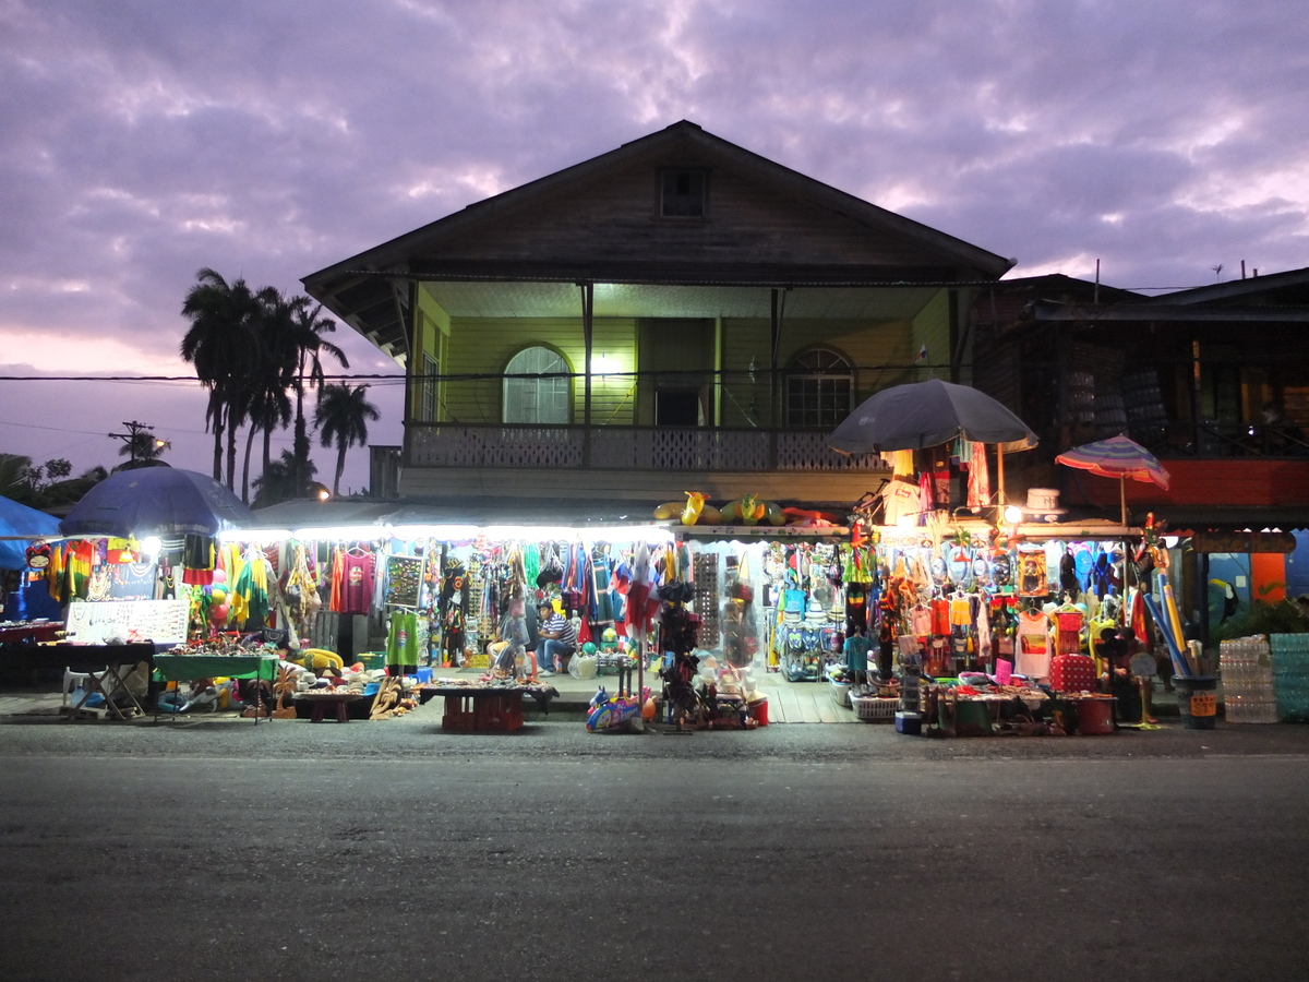
[[(635, 364), (636, 326), (628, 318), (597, 318), (592, 356), (605, 355), (624, 365)], [(442, 374), (492, 376), (476, 380), (442, 382), (442, 419), (461, 423), (501, 422), (503, 385), (500, 373), (509, 359), (524, 348), (543, 344), (556, 348), (575, 373), (586, 367), (586, 347), (581, 318), (463, 318), (450, 323), (450, 339)], [(596, 423), (631, 424), (635, 399), (632, 380), (623, 376), (596, 377), (592, 381), (592, 420)], [(581, 378), (572, 386), (573, 422), (581, 423), (585, 412), (585, 385)]]

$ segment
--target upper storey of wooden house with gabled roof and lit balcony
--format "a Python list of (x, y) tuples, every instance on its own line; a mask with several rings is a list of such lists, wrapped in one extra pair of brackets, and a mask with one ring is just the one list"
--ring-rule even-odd
[(681, 122), (304, 284), (406, 369), (402, 496), (848, 503), (827, 433), (1012, 264)]

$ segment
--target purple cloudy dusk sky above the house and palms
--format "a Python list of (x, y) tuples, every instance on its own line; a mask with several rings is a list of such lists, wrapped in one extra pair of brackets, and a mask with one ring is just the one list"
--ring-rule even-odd
[[(1309, 266), (1300, 0), (0, 0), (0, 80), (3, 374), (188, 374), (202, 266), (298, 292), (678, 119), (1011, 276)], [(399, 443), (398, 391), (372, 389), (374, 443)], [(0, 381), (0, 452), (113, 466), (105, 433), (137, 419), (207, 471), (203, 406), (194, 382)]]

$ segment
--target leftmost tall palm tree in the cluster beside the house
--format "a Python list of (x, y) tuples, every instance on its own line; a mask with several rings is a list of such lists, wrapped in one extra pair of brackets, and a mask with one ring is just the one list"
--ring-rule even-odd
[(195, 285), (182, 301), (182, 316), (191, 327), (182, 338), (182, 357), (195, 365), (195, 374), (209, 390), (204, 422), (213, 431), (213, 479), (223, 481), (223, 436), (228, 437), (228, 479), (236, 471), (236, 431), (246, 409), (246, 389), (260, 361), (257, 323), (259, 299), (243, 279), (230, 284), (215, 270), (195, 274)]

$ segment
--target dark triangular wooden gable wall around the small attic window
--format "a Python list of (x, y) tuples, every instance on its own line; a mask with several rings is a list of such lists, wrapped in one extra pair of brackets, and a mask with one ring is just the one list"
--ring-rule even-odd
[[(652, 156), (581, 189), (488, 217), (476, 232), (442, 242), (442, 261), (661, 262), (805, 266), (950, 266), (925, 247), (734, 174), (694, 152)], [(657, 215), (662, 166), (707, 168), (707, 217)], [(415, 261), (421, 263), (421, 254)]]

